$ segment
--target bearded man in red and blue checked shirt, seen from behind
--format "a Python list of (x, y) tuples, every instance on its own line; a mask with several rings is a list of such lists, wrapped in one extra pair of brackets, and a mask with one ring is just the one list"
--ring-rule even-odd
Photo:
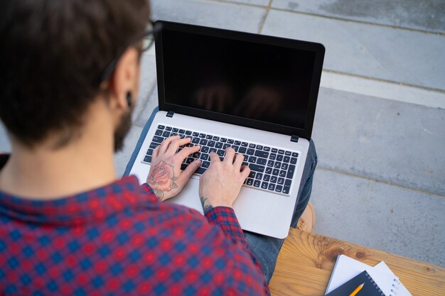
[(0, 157), (1, 295), (269, 295), (282, 241), (240, 229), (242, 155), (211, 155), (205, 216), (163, 203), (200, 165), (180, 170), (199, 150), (176, 153), (188, 139), (156, 148), (141, 187), (117, 180), (150, 24), (145, 0), (2, 1), (0, 119), (12, 153)]

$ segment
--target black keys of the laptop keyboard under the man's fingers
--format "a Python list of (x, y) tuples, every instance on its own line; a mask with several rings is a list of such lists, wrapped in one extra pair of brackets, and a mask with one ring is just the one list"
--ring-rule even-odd
[[(186, 145), (188, 147), (195, 145), (201, 146), (198, 152), (189, 155), (188, 158), (183, 161), (181, 170), (185, 170), (193, 160), (200, 159), (202, 162), (201, 166), (195, 173), (203, 174), (210, 165), (209, 153), (215, 152), (220, 155), (220, 160), (223, 160), (225, 157), (225, 149), (232, 147), (235, 149), (235, 152), (244, 155), (243, 165), (248, 165), (250, 168), (250, 175), (245, 180), (244, 186), (279, 194), (289, 194), (292, 177), (294, 176), (296, 162), (299, 156), (299, 154), (294, 151), (240, 141), (235, 138), (223, 138), (208, 133), (199, 133), (197, 131), (159, 125), (158, 128), (156, 128), (155, 136), (150, 143), (149, 150), (146, 151), (144, 157), (145, 163), (151, 163), (151, 154), (154, 148), (170, 136), (191, 138), (191, 143)], [(178, 151), (182, 148), (184, 148), (184, 146), (181, 146)]]

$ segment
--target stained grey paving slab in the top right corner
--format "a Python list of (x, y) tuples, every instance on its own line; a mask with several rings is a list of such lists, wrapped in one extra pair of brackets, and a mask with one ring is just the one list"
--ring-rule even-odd
[(445, 33), (445, 1), (443, 0), (273, 0), (272, 7)]

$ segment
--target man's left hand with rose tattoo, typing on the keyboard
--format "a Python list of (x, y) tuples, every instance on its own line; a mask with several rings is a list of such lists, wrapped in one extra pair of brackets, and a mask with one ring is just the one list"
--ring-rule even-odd
[(151, 168), (146, 182), (149, 183), (161, 202), (181, 192), (193, 172), (201, 164), (200, 160), (195, 160), (181, 172), (183, 160), (200, 149), (200, 146), (185, 147), (176, 153), (179, 146), (186, 145), (190, 141), (190, 138), (181, 139), (179, 136), (173, 136), (166, 138), (161, 145), (153, 150)]

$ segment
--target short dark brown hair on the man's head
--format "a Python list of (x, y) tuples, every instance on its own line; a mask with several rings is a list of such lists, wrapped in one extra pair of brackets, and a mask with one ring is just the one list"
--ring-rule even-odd
[(0, 119), (8, 131), (29, 147), (54, 131), (68, 143), (102, 70), (148, 21), (147, 0), (1, 0)]

